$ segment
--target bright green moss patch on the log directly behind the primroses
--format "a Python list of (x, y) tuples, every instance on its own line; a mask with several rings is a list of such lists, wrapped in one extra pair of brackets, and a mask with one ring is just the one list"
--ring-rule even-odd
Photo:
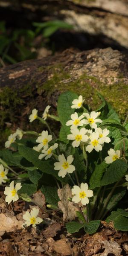
[[(127, 109), (127, 84), (119, 82), (107, 85), (99, 81), (96, 77), (88, 76), (86, 73), (78, 79), (74, 79), (73, 81), (72, 78), (72, 81), (70, 81), (71, 75), (66, 73), (60, 66), (50, 67), (50, 73), (47, 81), (39, 85), (38, 92), (45, 90), (46, 94), (50, 97), (55, 90), (61, 92), (72, 90), (78, 94), (82, 94), (86, 103), (93, 110), (101, 104), (101, 99), (99, 99), (97, 95), (97, 92), (99, 92), (111, 103), (121, 119), (125, 119)], [(120, 76), (120, 79), (121, 77), (122, 76)]]

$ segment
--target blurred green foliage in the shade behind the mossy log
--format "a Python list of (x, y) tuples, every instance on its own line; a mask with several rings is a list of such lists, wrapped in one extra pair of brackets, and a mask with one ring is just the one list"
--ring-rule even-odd
[[(32, 23), (32, 29), (6, 28), (6, 22), (0, 21), (0, 66), (4, 63), (15, 64), (37, 57), (37, 47), (48, 47), (50, 36), (58, 29), (73, 27), (61, 20)], [(40, 45), (35, 41), (41, 35)], [(53, 51), (52, 51), (53, 52)], [(54, 53), (54, 52), (53, 52)], [(3, 62), (3, 63), (2, 63)]]

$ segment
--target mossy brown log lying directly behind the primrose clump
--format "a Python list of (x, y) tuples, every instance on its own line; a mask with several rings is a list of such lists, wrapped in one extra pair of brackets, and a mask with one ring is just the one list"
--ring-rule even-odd
[(125, 119), (128, 54), (111, 48), (84, 52), (66, 50), (0, 69), (0, 129), (3, 134), (0, 137), (4, 140), (10, 130), (15, 131), (17, 127), (28, 129), (28, 115), (33, 108), (42, 114), (49, 104), (55, 113), (58, 96), (66, 90), (82, 94), (93, 110), (101, 104), (99, 92), (122, 120)]

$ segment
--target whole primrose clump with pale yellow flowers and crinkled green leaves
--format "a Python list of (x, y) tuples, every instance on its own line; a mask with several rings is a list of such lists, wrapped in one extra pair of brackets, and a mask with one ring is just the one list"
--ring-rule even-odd
[[(70, 217), (67, 209), (64, 219), (69, 233), (81, 228), (94, 233), (100, 220), (113, 221), (117, 230), (128, 231), (127, 118), (121, 124), (111, 105), (99, 97), (102, 105), (91, 111), (81, 95), (62, 93), (58, 116), (49, 113), (49, 105), (42, 117), (32, 110), (29, 122), (35, 122), (35, 128), (41, 122), (41, 133), (18, 128), (9, 136), (6, 150), (0, 151), (0, 184), (10, 182), (4, 191), (8, 204), (22, 198), (38, 205), (32, 194), (40, 189), (47, 207), (60, 210), (61, 216), (63, 192), (67, 206), (74, 207)], [(26, 212), (24, 227), (41, 223), (37, 216), (36, 208)]]

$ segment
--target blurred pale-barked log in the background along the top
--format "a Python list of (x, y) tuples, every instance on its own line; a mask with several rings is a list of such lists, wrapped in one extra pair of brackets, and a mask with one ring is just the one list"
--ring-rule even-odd
[(77, 32), (102, 35), (128, 48), (128, 0), (0, 0), (0, 7), (63, 19)]

